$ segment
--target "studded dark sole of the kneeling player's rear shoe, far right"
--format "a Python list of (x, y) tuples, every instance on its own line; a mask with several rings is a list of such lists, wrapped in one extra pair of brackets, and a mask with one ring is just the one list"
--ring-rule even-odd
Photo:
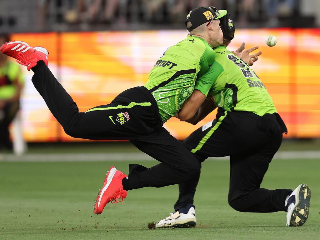
[(301, 184), (299, 195), (296, 195), (296, 205), (292, 210), (288, 227), (301, 227), (308, 219), (311, 190), (307, 184)]

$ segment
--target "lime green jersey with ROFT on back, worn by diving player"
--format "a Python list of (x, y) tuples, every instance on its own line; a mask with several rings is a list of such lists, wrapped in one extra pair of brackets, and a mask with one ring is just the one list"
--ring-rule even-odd
[[(197, 76), (203, 76), (214, 62), (214, 51), (202, 38), (188, 36), (169, 47), (156, 61), (145, 87), (158, 104), (163, 122), (174, 116), (194, 90)], [(205, 82), (207, 81), (207, 82)], [(198, 82), (206, 94), (212, 79)]]

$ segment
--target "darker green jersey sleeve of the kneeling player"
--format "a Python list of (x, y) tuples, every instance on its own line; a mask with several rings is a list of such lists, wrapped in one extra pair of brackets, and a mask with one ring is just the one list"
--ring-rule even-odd
[(196, 81), (195, 89), (202, 92), (205, 96), (208, 95), (212, 85), (217, 80), (218, 76), (223, 72), (223, 67), (218, 62), (213, 62), (209, 71), (203, 76), (198, 77)]

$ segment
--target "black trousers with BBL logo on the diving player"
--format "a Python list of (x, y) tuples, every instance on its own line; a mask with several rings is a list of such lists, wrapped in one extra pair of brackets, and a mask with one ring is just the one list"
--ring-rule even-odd
[(76, 103), (39, 61), (32, 82), (64, 131), (75, 138), (128, 139), (160, 164), (146, 168), (129, 165), (129, 188), (164, 187), (187, 181), (200, 163), (162, 127), (156, 100), (145, 87), (120, 93), (110, 104), (79, 112)]

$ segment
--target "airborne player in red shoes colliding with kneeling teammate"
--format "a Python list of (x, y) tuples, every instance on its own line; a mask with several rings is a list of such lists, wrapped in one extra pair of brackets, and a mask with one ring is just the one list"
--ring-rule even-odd
[[(31, 47), (22, 41), (1, 46), (2, 53), (34, 71), (34, 86), (68, 135), (84, 139), (127, 139), (160, 162), (151, 168), (130, 164), (129, 176), (112, 166), (96, 199), (94, 213), (100, 214), (109, 202), (122, 202), (127, 190), (183, 183), (200, 170), (195, 156), (163, 124), (179, 112), (196, 83), (201, 94), (210, 90), (212, 79), (200, 78), (212, 69), (212, 47), (223, 42), (219, 18), (226, 13), (215, 7), (190, 11), (185, 21), (190, 36), (156, 60), (145, 86), (128, 89), (111, 103), (86, 112), (79, 112), (71, 96), (52, 75), (45, 48)], [(198, 101), (193, 100), (188, 102), (197, 108)]]

